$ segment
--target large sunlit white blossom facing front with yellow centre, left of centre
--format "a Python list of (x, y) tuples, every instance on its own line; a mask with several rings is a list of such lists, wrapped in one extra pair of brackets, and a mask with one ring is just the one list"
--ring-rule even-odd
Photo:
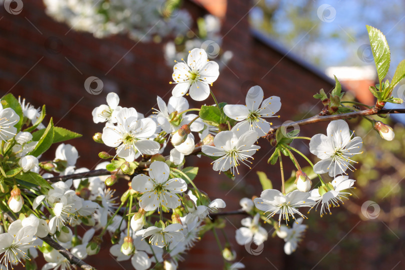
[(107, 125), (102, 130), (102, 141), (116, 147), (116, 154), (128, 162), (139, 155), (155, 154), (160, 149), (157, 141), (148, 139), (156, 130), (156, 123), (150, 118), (138, 119), (134, 108), (122, 108), (117, 116), (117, 125)]

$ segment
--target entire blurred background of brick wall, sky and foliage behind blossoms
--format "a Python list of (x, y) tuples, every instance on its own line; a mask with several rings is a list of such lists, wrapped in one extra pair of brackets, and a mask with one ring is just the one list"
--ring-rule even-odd
[[(83, 134), (69, 143), (79, 151), (78, 167), (89, 169), (101, 161), (97, 153), (107, 150), (91, 139), (102, 129), (92, 122), (92, 109), (105, 103), (106, 94), (113, 91), (121, 106), (133, 106), (149, 115), (156, 95), (165, 101), (170, 96), (173, 60), (193, 47), (205, 48), (220, 65), (212, 87), (217, 99), (243, 103), (253, 85), (260, 85), (266, 97), (280, 96), (281, 117), (274, 118), (274, 124), (319, 112), (322, 105), (312, 95), (320, 88), (329, 92), (334, 87), (333, 74), (342, 82), (347, 100), (374, 102), (368, 86), (375, 83), (376, 73), (365, 24), (386, 34), (392, 57), (388, 75), (405, 58), (405, 4), (401, 0), (0, 2), (4, 6), (0, 7), (1, 95), (11, 92), (36, 107), (45, 104), (45, 122), (51, 116), (55, 125)], [(119, 9), (119, 4), (125, 8)], [(118, 19), (108, 13), (113, 8), (127, 17), (124, 23), (113, 23)], [(85, 81), (90, 76), (101, 81), (102, 90), (87, 91)], [(96, 88), (99, 80), (90, 87)], [(405, 85), (399, 85), (394, 94), (403, 98), (404, 91)], [(234, 240), (243, 216), (224, 218), (223, 232), (237, 253), (235, 261), (246, 269), (405, 268), (404, 117), (382, 120), (394, 127), (394, 141), (383, 141), (367, 121), (349, 121), (364, 141), (364, 153), (351, 173), (357, 189), (331, 216), (320, 218), (314, 211), (308, 215), (309, 228), (292, 255), (283, 253), (283, 240), (277, 236), (264, 242), (260, 255), (251, 254), (256, 246), (246, 248)], [(325, 123), (303, 126), (300, 135), (324, 133), (325, 128)], [(266, 163), (272, 147), (265, 140), (259, 144), (262, 148), (253, 168), (242, 168), (233, 181), (215, 173), (205, 157), (192, 157), (186, 165), (200, 167), (196, 185), (211, 198), (224, 199), (225, 210), (238, 209), (239, 198), (261, 192), (256, 170), (266, 172), (273, 185), (280, 186), (279, 169)], [(306, 142), (294, 141), (293, 146), (316, 161)], [(44, 158), (53, 158), (52, 149)], [(285, 163), (289, 175), (293, 167)], [(126, 183), (120, 185), (118, 190), (126, 188)], [(372, 202), (368, 209), (367, 201)], [(274, 229), (266, 228), (270, 236)], [(225, 240), (220, 231), (219, 237)], [(132, 268), (127, 261), (114, 260), (108, 242), (105, 238), (100, 253), (86, 262), (97, 269)], [(179, 269), (223, 266), (211, 232), (184, 259)]]

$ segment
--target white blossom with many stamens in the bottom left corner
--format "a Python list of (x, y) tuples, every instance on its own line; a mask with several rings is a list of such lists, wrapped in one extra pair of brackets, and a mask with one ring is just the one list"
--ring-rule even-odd
[(0, 265), (8, 269), (8, 263), (18, 264), (29, 259), (26, 253), (28, 248), (35, 246), (33, 244), (35, 230), (32, 226), (14, 226), (11, 223), (8, 232), (0, 234), (0, 255), (2, 254)]

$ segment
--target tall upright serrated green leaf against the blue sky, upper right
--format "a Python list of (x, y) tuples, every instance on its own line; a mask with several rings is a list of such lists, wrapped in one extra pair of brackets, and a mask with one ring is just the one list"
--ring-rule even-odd
[(390, 62), (389, 46), (385, 36), (380, 30), (370, 25), (366, 25), (372, 56), (374, 57), (375, 66), (377, 68), (378, 79), (381, 81), (388, 72)]

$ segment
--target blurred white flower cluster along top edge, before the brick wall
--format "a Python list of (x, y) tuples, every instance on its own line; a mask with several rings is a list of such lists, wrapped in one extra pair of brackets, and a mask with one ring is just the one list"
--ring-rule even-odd
[(191, 24), (185, 10), (174, 9), (166, 0), (43, 0), (46, 13), (78, 31), (96, 37), (125, 33), (135, 40), (184, 34)]

